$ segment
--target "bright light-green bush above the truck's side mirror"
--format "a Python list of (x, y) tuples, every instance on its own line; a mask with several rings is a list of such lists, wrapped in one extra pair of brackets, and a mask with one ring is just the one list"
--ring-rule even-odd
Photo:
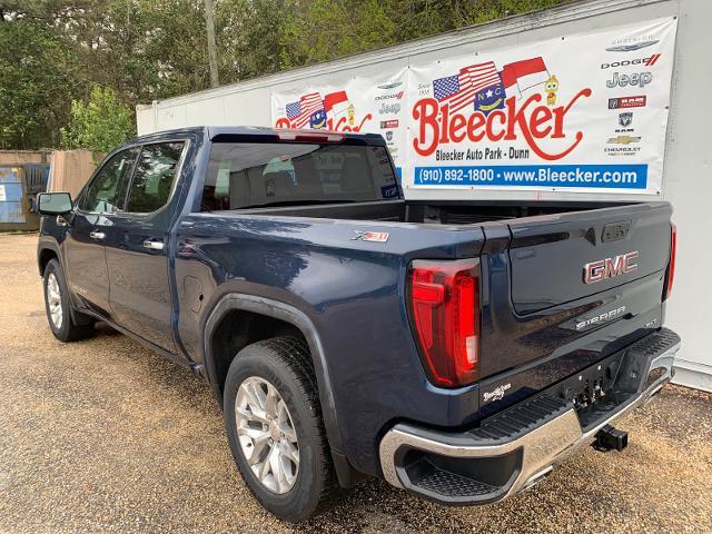
[(112, 89), (96, 86), (88, 103), (72, 100), (71, 118), (61, 135), (66, 148), (107, 154), (136, 135), (131, 108), (121, 103)]

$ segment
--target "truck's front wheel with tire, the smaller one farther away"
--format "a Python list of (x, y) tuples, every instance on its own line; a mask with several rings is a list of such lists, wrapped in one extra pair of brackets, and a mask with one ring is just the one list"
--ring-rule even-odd
[[(52, 334), (60, 342), (76, 342), (93, 335), (93, 322), (71, 309), (65, 273), (57, 259), (50, 259), (42, 277), (44, 310)], [(82, 320), (78, 325), (75, 319)]]

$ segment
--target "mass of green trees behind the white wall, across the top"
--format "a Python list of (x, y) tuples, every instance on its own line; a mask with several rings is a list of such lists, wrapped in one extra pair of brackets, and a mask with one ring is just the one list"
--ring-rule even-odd
[[(215, 0), (220, 81), (563, 1)], [(91, 102), (76, 112), (70, 106), (87, 100), (95, 85), (111, 88), (117, 109), (126, 110), (118, 102), (145, 103), (206, 89), (210, 82), (204, 0), (0, 0), (0, 148), (57, 146), (70, 111), (66, 142), (103, 142), (98, 131), (77, 137), (78, 116)], [(105, 125), (108, 138), (129, 131), (122, 113), (112, 118), (118, 122)], [(132, 121), (130, 109), (129, 115)]]

